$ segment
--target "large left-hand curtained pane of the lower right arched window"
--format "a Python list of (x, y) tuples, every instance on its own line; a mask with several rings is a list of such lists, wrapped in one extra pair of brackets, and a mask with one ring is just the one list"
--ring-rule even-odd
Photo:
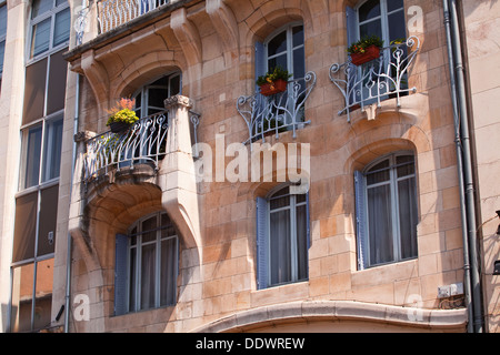
[(393, 261), (390, 185), (368, 189), (370, 264)]

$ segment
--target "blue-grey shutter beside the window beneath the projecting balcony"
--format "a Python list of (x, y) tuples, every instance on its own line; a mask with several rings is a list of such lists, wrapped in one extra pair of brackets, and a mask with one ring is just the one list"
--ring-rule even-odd
[(117, 234), (114, 247), (114, 315), (127, 313), (127, 254), (129, 239)]

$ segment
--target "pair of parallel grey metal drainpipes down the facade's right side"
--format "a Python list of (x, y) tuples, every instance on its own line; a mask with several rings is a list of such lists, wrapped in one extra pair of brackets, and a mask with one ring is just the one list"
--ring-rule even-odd
[[(450, 31), (448, 36), (448, 53), (450, 58), (450, 79), (453, 79), (452, 84), (452, 99), (453, 104), (457, 104), (458, 109), (454, 110), (456, 115), (456, 129), (457, 129), (457, 152), (458, 152), (458, 169), (460, 180), (462, 180), (461, 193), (464, 192), (464, 201), (461, 201), (462, 207), (464, 204), (464, 217), (467, 223), (462, 224), (462, 229), (467, 229), (467, 237), (463, 243), (464, 255), (466, 248), (469, 248), (467, 255), (470, 262), (470, 288), (471, 288), (471, 304), (472, 317), (469, 316), (468, 328), (476, 333), (482, 333), (482, 302), (481, 302), (481, 283), (479, 276), (478, 265), (478, 239), (476, 231), (476, 200), (474, 200), (474, 184), (472, 176), (472, 163), (470, 151), (470, 134), (469, 134), (469, 116), (467, 111), (467, 98), (466, 98), (466, 81), (464, 69), (462, 62), (462, 45), (460, 42), (460, 28), (456, 0), (443, 0), (443, 11), (447, 31)], [(454, 81), (456, 80), (456, 81)], [(463, 217), (463, 214), (462, 214)], [(464, 260), (464, 272), (468, 273), (469, 265)], [(467, 284), (466, 284), (467, 287)], [(470, 314), (470, 313), (469, 313)]]

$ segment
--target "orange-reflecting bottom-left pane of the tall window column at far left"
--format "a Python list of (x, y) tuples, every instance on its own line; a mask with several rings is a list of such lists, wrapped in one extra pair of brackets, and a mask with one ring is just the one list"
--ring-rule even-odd
[(34, 264), (13, 268), (10, 328), (13, 333), (31, 331)]

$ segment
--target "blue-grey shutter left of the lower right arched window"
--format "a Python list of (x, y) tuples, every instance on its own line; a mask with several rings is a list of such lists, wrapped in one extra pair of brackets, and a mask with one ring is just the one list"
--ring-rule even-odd
[(356, 194), (356, 235), (358, 244), (358, 268), (367, 267), (367, 211), (364, 199), (364, 176), (361, 172), (354, 171), (354, 194)]

